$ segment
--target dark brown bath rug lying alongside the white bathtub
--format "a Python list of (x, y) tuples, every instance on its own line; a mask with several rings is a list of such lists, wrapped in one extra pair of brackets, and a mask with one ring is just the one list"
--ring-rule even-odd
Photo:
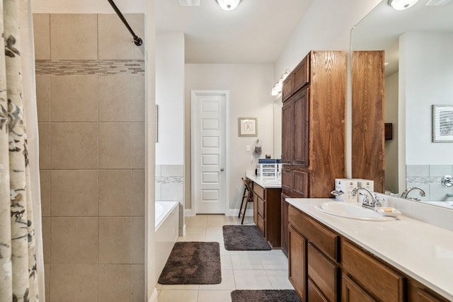
[(160, 284), (219, 284), (220, 248), (217, 242), (177, 242), (159, 277)]

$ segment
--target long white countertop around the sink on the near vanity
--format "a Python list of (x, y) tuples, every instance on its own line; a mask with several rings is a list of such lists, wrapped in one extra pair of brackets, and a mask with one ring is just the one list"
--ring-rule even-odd
[(334, 199), (286, 199), (433, 291), (453, 301), (453, 231), (400, 215), (392, 221), (360, 221), (314, 206)]

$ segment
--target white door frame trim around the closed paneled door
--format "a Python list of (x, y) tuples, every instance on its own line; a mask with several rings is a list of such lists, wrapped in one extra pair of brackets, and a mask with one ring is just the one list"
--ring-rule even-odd
[(195, 209), (195, 98), (197, 95), (224, 95), (225, 96), (225, 192), (224, 211), (229, 213), (229, 91), (224, 90), (193, 90), (190, 91), (190, 208), (192, 216), (197, 214)]

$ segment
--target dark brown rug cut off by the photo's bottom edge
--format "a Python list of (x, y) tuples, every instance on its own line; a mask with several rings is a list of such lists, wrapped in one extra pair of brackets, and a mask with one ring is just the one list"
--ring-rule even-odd
[(236, 290), (231, 291), (232, 302), (301, 302), (292, 289)]

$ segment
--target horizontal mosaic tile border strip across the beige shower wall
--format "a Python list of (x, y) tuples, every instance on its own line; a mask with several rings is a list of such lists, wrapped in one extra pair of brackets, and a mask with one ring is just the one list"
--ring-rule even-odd
[(144, 75), (144, 60), (36, 60), (35, 71), (53, 76)]

